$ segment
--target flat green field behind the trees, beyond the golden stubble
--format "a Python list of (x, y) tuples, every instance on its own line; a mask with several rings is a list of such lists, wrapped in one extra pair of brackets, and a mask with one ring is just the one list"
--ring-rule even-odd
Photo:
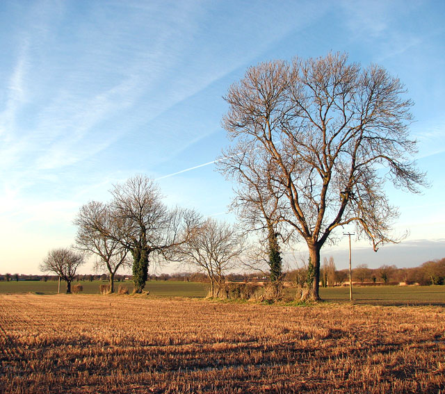
[[(108, 284), (106, 281), (80, 281), (73, 282), (83, 286), (82, 294), (99, 294), (99, 286)], [(115, 283), (115, 289), (119, 285), (127, 286), (129, 292), (133, 291), (131, 281)], [(56, 294), (58, 284), (56, 281), (0, 281), (0, 293), (37, 293)], [(184, 281), (148, 281), (145, 290), (154, 297), (205, 297), (207, 284)], [(292, 289), (286, 293), (291, 295)], [(65, 282), (60, 283), (60, 293), (65, 293)], [(330, 302), (348, 302), (349, 288), (320, 288), (322, 299)], [(357, 304), (380, 305), (410, 305), (410, 304), (435, 304), (445, 306), (445, 286), (364, 286), (353, 289), (354, 302)]]

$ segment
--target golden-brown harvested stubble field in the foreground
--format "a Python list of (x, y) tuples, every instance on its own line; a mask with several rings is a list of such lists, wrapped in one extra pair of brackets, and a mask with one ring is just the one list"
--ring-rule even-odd
[(442, 306), (0, 295), (1, 393), (439, 393)]

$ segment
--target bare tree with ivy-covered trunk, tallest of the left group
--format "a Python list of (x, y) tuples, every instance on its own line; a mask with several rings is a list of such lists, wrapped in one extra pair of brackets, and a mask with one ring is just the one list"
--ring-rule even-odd
[(150, 254), (169, 258), (172, 248), (188, 238), (196, 215), (180, 208), (168, 209), (159, 187), (143, 175), (115, 185), (111, 194), (111, 207), (121, 226), (116, 239), (133, 255), (134, 292), (141, 293), (147, 281)]

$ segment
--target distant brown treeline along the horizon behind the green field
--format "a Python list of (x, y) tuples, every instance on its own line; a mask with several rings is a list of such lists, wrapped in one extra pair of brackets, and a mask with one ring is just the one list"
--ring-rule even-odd
[[(291, 270), (284, 274), (284, 281), (305, 281), (307, 268)], [(132, 280), (132, 275), (116, 274), (115, 281)], [(26, 275), (26, 274), (0, 274), (0, 281), (56, 281), (57, 275)], [(107, 281), (107, 274), (79, 274), (77, 281)], [(175, 272), (173, 274), (151, 274), (149, 281), (193, 281), (207, 282), (207, 275), (202, 272)], [(268, 272), (227, 274), (226, 281), (268, 281)], [(396, 265), (382, 265), (379, 268), (369, 268), (366, 264), (357, 265), (353, 269), (353, 281), (357, 284), (371, 285), (395, 285), (395, 284), (419, 284), (444, 285), (445, 284), (445, 258), (441, 260), (427, 261), (419, 267), (397, 268)], [(334, 270), (332, 274), (328, 268), (321, 268), (321, 286), (341, 286), (349, 282), (349, 270)]]

